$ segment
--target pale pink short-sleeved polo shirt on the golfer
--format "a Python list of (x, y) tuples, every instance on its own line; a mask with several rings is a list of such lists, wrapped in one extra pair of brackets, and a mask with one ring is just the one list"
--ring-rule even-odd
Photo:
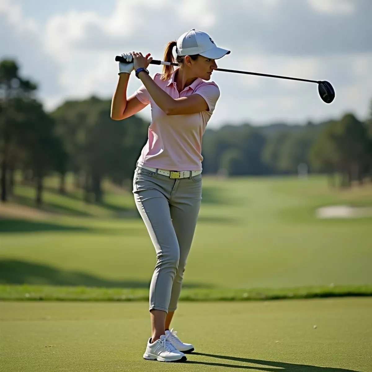
[(148, 128), (148, 141), (142, 149), (138, 165), (174, 171), (202, 170), (202, 136), (219, 98), (219, 88), (213, 81), (197, 78), (178, 93), (174, 81), (176, 71), (168, 81), (161, 81), (159, 73), (154, 75), (153, 80), (174, 99), (200, 94), (206, 100), (209, 111), (166, 115), (142, 85), (135, 96), (142, 103), (151, 105), (152, 120)]

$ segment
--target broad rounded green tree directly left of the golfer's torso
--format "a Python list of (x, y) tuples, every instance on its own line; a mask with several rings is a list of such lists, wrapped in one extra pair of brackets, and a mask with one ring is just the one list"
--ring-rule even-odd
[(84, 173), (87, 202), (92, 195), (95, 202), (102, 201), (104, 177), (118, 184), (132, 177), (147, 139), (148, 123), (136, 115), (112, 120), (110, 108), (110, 100), (92, 96), (65, 102), (51, 114), (68, 153), (67, 169)]

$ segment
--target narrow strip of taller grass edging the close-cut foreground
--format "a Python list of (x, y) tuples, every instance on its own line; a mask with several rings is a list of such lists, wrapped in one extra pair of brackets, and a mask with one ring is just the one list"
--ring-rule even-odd
[[(273, 299), (372, 296), (372, 285), (295, 288), (183, 288), (180, 301), (254, 301)], [(24, 301), (148, 301), (147, 288), (0, 285), (0, 300)]]

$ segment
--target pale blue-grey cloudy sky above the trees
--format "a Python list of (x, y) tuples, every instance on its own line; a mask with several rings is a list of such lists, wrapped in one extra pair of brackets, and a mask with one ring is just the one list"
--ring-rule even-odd
[[(215, 71), (221, 96), (208, 126), (369, 116), (371, 0), (0, 0), (0, 60), (15, 59), (53, 110), (93, 94), (111, 99), (116, 55), (162, 59), (167, 42), (193, 28), (231, 50), (220, 68), (327, 80), (336, 91), (326, 104), (317, 84)], [(140, 86), (132, 74), (127, 95)], [(139, 115), (150, 120), (151, 108)]]

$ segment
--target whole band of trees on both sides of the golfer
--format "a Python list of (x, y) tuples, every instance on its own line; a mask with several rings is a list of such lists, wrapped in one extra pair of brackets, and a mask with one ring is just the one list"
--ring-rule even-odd
[[(137, 115), (110, 118), (110, 99), (68, 100), (46, 112), (36, 99), (37, 85), (20, 76), (14, 60), (0, 61), (1, 201), (12, 195), (15, 171), (36, 188), (42, 203), (49, 174), (73, 172), (87, 202), (103, 198), (102, 180), (123, 186), (131, 179), (147, 140), (149, 123)], [(371, 119), (352, 113), (338, 120), (304, 126), (285, 123), (257, 127), (224, 125), (207, 129), (202, 144), (203, 172), (229, 176), (310, 173), (341, 175), (339, 186), (362, 183), (372, 175)]]

